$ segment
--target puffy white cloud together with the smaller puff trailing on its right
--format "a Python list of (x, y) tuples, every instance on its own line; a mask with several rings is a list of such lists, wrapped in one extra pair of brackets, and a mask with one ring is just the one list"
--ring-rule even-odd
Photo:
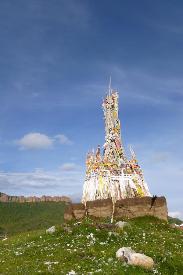
[(45, 134), (29, 133), (19, 140), (16, 139), (13, 144), (20, 146), (20, 150), (26, 149), (51, 149), (53, 144), (59, 141), (61, 144), (73, 145), (73, 141), (65, 135), (56, 135), (53, 138)]

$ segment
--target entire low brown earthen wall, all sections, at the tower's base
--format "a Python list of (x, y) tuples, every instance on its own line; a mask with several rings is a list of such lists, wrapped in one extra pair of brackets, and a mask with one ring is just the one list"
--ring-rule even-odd
[(156, 198), (156, 201), (153, 201), (152, 197), (117, 200), (114, 206), (111, 199), (87, 201), (86, 208), (82, 203), (70, 204), (66, 208), (64, 218), (65, 222), (72, 219), (81, 221), (86, 216), (92, 220), (99, 220), (110, 217), (112, 213), (115, 219), (147, 215), (168, 221), (167, 202), (163, 196)]

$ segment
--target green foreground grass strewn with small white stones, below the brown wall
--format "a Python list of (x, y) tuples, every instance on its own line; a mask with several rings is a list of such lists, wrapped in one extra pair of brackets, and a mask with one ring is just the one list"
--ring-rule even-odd
[[(182, 274), (183, 231), (170, 229), (155, 217), (124, 220), (131, 229), (116, 230), (119, 237), (109, 237), (107, 229), (98, 231), (91, 220), (84, 219), (80, 228), (73, 226), (71, 233), (58, 226), (53, 234), (42, 229), (0, 242), (0, 260), (4, 261), (0, 262), (0, 274), (68, 274), (71, 270), (98, 275)], [(95, 239), (87, 237), (90, 233)], [(118, 262), (116, 252), (123, 246), (152, 257), (155, 271)], [(48, 261), (58, 263), (50, 267), (45, 265)]]

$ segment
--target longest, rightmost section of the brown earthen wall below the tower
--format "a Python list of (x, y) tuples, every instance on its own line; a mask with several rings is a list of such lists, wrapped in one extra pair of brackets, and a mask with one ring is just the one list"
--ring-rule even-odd
[(165, 197), (158, 197), (155, 201), (152, 200), (152, 197), (117, 200), (113, 216), (117, 219), (134, 218), (145, 215), (152, 215), (168, 221)]

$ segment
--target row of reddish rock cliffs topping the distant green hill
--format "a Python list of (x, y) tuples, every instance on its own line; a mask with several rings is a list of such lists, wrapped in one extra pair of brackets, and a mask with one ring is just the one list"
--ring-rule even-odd
[(66, 201), (72, 203), (72, 200), (70, 198), (62, 196), (62, 197), (51, 197), (51, 196), (42, 196), (41, 198), (38, 197), (24, 197), (24, 196), (8, 196), (5, 193), (0, 193), (0, 202), (39, 202), (39, 201)]

